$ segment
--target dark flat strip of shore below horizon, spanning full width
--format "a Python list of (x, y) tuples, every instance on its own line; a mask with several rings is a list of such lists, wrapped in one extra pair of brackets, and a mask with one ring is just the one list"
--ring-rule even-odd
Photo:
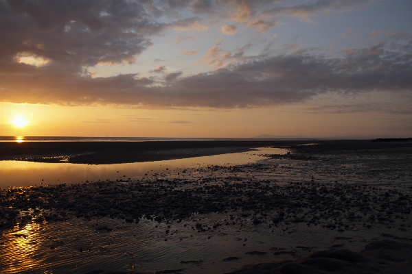
[[(314, 142), (315, 145), (304, 146)], [(412, 142), (371, 140), (218, 140), (169, 142), (0, 142), (0, 160), (69, 162), (73, 164), (122, 164), (173, 160), (251, 151), (254, 147), (284, 147), (295, 152), (369, 153), (412, 149)]]

